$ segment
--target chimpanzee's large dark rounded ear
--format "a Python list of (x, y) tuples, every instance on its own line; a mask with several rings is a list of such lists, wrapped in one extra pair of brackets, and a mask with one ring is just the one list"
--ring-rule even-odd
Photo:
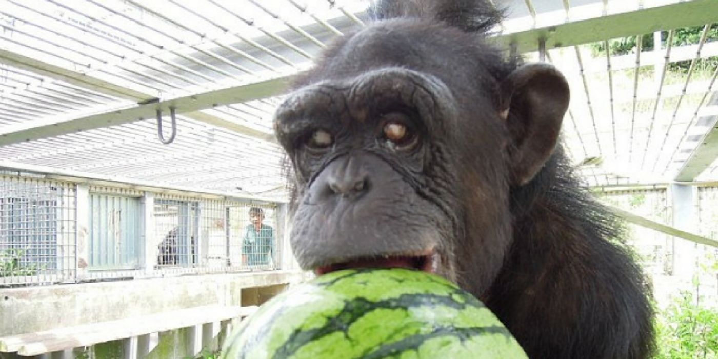
[(501, 84), (500, 116), (505, 118), (513, 146), (513, 185), (525, 185), (544, 167), (559, 140), (561, 121), (569, 106), (569, 85), (556, 67), (529, 63)]

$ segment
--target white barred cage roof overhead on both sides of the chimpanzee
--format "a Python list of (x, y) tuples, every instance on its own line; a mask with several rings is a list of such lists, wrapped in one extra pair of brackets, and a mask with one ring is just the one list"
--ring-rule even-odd
[[(230, 190), (263, 176), (284, 180), (271, 128), (274, 96), (332, 37), (363, 26), (368, 4), (0, 1), (0, 157)], [(718, 176), (710, 131), (716, 88), (706, 75), (716, 70), (718, 41), (707, 35), (686, 45), (671, 31), (667, 45), (659, 34), (658, 46), (624, 55), (597, 54), (592, 45), (712, 29), (717, 1), (495, 4), (509, 16), (492, 41), (531, 59), (543, 39), (546, 58), (567, 75), (573, 98), (564, 138), (574, 162), (600, 157), (610, 171), (592, 173), (604, 182), (646, 182), (650, 173), (685, 179), (688, 168), (692, 178)], [(693, 64), (690, 75), (676, 72), (684, 62)], [(182, 118), (179, 137), (162, 146), (154, 111), (167, 116), (169, 106)], [(633, 177), (626, 171), (638, 168)]]

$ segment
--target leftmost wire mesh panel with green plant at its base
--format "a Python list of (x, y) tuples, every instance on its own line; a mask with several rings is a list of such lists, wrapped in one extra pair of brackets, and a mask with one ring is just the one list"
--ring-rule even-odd
[(74, 185), (0, 176), (0, 284), (73, 279), (75, 214)]

